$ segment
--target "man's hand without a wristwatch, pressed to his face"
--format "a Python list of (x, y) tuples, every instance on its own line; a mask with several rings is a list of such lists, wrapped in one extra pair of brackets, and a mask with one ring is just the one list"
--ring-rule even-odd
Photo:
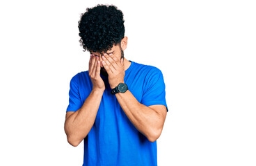
[(90, 80), (93, 82), (93, 90), (105, 90), (105, 84), (102, 80), (102, 77), (100, 77), (100, 62), (99, 57), (96, 57), (95, 55), (90, 55), (90, 61), (89, 61), (89, 75)]

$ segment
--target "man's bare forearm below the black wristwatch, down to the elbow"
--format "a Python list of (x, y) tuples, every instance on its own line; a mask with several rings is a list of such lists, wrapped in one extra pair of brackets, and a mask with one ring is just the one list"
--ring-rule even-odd
[(163, 127), (159, 113), (139, 103), (129, 90), (125, 93), (116, 93), (115, 96), (136, 129), (151, 142), (157, 140)]

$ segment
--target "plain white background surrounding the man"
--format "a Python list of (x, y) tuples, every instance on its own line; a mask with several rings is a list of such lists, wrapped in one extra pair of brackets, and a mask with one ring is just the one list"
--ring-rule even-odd
[(163, 72), (158, 165), (256, 165), (256, 6), (231, 0), (1, 1), (0, 165), (82, 165), (64, 121), (88, 70), (78, 21), (98, 3), (124, 13), (125, 57)]

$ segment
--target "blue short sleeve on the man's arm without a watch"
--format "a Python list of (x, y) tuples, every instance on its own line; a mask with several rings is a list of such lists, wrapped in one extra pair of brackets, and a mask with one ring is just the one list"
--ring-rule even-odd
[(81, 108), (82, 102), (81, 98), (79, 95), (79, 75), (74, 75), (72, 79), (70, 80), (70, 99), (69, 99), (69, 104), (67, 106), (67, 111), (77, 111), (78, 109)]

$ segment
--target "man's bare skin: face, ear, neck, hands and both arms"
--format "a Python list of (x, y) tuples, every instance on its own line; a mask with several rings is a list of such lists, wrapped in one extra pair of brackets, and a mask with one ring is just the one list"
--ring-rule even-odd
[[(127, 59), (121, 59), (122, 50), (126, 48), (127, 37), (124, 37), (120, 45), (113, 46), (106, 54), (92, 53), (88, 72), (93, 82), (93, 90), (79, 110), (67, 111), (66, 113), (65, 133), (70, 145), (74, 147), (79, 145), (93, 127), (105, 90), (104, 81), (99, 75), (104, 72), (101, 69), (105, 68), (111, 89), (118, 86), (120, 82), (125, 83), (125, 71), (131, 65), (131, 62)], [(161, 135), (166, 119), (166, 107), (163, 105), (147, 107), (138, 102), (129, 90), (125, 93), (116, 93), (115, 96), (127, 118), (134, 124), (134, 127), (143, 133), (150, 142), (156, 141)]]

